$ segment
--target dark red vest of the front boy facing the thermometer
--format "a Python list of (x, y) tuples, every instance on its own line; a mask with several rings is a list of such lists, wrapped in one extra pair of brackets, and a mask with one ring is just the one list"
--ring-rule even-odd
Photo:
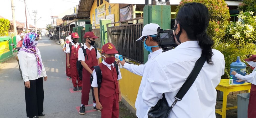
[(111, 71), (103, 63), (99, 64), (102, 74), (102, 82), (100, 87), (100, 95), (109, 97), (115, 93), (119, 93), (118, 82), (117, 82), (117, 73), (114, 67), (114, 71)]

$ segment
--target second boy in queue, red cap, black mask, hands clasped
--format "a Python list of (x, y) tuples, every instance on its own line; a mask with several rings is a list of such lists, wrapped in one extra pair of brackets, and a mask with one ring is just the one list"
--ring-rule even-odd
[[(95, 39), (99, 37), (95, 36), (93, 32), (86, 32), (84, 34), (85, 44), (83, 47), (81, 47), (78, 51), (78, 60), (81, 62), (81, 65), (83, 66), (83, 89), (82, 89), (82, 97), (81, 97), (81, 107), (79, 110), (79, 114), (84, 115), (85, 114), (85, 105), (88, 105), (89, 96), (90, 96), (90, 90), (91, 90), (91, 82), (90, 77), (91, 73), (93, 73), (94, 66), (98, 66), (100, 64), (99, 58), (100, 53), (97, 50), (96, 47), (94, 47)], [(86, 53), (84, 53), (84, 51)], [(86, 55), (85, 55), (86, 54)], [(93, 91), (92, 91), (93, 92)], [(93, 110), (96, 109), (96, 101), (94, 99), (93, 94)], [(100, 110), (98, 110), (100, 112)]]

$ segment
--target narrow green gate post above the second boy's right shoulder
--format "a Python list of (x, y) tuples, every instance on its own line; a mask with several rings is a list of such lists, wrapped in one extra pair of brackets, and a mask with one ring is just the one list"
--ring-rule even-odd
[(111, 20), (109, 19), (100, 20), (101, 47), (107, 43), (107, 23), (111, 23)]

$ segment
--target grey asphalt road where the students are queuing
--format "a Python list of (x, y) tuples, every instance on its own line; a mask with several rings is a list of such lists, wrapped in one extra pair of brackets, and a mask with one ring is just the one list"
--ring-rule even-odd
[[(81, 105), (81, 92), (71, 93), (71, 80), (65, 74), (65, 54), (62, 47), (55, 44), (56, 40), (43, 37), (38, 41), (48, 80), (44, 82), (44, 113), (42, 118), (100, 118), (98, 111), (92, 106), (80, 115), (76, 107)], [(0, 118), (26, 118), (24, 82), (18, 70), (18, 63), (13, 57), (0, 65)], [(72, 89), (73, 90), (73, 89)], [(90, 95), (89, 104), (92, 104)]]

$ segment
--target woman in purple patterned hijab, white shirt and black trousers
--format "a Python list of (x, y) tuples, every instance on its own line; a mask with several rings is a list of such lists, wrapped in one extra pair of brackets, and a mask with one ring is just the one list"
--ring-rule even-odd
[(44, 81), (47, 75), (42, 63), (39, 49), (36, 47), (38, 35), (28, 33), (23, 39), (23, 47), (18, 52), (20, 67), (25, 85), (25, 101), (27, 116), (29, 118), (38, 118), (44, 116)]

